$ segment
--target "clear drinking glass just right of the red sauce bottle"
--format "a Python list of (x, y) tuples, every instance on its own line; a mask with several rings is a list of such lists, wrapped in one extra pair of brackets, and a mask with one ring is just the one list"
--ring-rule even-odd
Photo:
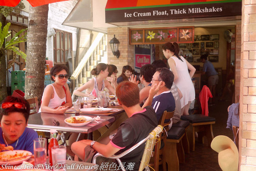
[(52, 164), (53, 171), (55, 170), (65, 170), (64, 165), (66, 164), (66, 152), (67, 148), (64, 145), (53, 146), (52, 147)]

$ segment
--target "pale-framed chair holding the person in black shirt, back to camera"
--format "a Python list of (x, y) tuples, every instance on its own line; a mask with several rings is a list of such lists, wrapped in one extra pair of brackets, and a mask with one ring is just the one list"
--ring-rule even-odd
[[(156, 143), (156, 139), (157, 136), (163, 131), (163, 127), (161, 125), (158, 125), (146, 138), (144, 138), (143, 140), (141, 140), (140, 142), (138, 142), (137, 144), (135, 144), (134, 146), (132, 146), (130, 149), (127, 149), (125, 152), (119, 154), (119, 155), (113, 155), (111, 157), (109, 157), (110, 159), (116, 159), (117, 162), (119, 163), (119, 166), (121, 167), (122, 171), (125, 171), (125, 168), (120, 160), (121, 157), (125, 156), (126, 154), (130, 153), (131, 151), (133, 151), (134, 149), (136, 149), (138, 146), (140, 146), (141, 144), (146, 142), (145, 148), (144, 148), (144, 152), (143, 152), (143, 156), (140, 162), (140, 167), (139, 167), (139, 171), (144, 170), (150, 170), (148, 168), (148, 162), (150, 162), (150, 158), (151, 158), (151, 154), (154, 148), (154, 144)], [(96, 155), (94, 155), (93, 157), (93, 163), (96, 164), (96, 159), (97, 157), (102, 156), (100, 153), (97, 153)]]

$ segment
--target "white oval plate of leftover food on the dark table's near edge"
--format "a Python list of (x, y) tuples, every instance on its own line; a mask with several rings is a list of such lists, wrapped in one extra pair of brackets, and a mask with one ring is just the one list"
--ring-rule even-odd
[(71, 116), (64, 120), (71, 126), (84, 126), (93, 121), (93, 118), (89, 116)]

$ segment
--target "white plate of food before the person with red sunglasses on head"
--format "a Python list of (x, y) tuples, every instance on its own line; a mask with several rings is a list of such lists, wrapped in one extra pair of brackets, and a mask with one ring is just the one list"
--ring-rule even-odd
[[(20, 163), (22, 163), (23, 161), (26, 161), (26, 160), (28, 160), (31, 156), (29, 156), (29, 157), (25, 157), (25, 158), (20, 158), (20, 159), (17, 159), (17, 160), (12, 160), (12, 161), (7, 161), (7, 162), (5, 162), (5, 161), (3, 161), (3, 160), (10, 160), (10, 158), (8, 157), (9, 155), (15, 155), (15, 154), (17, 154), (18, 156), (17, 156), (17, 158), (19, 158), (19, 157), (23, 157), (23, 156), (29, 156), (29, 155), (32, 155), (32, 153), (31, 152), (29, 152), (29, 151), (25, 151), (25, 150), (14, 150), (14, 151), (5, 151), (5, 152), (1, 152), (0, 153), (0, 165), (2, 165), (2, 164), (6, 164), (6, 163), (8, 163), (8, 164), (10, 164), (10, 165), (16, 165), (16, 164), (20, 164)], [(23, 154), (23, 155), (22, 155)], [(13, 158), (14, 159), (14, 158)]]

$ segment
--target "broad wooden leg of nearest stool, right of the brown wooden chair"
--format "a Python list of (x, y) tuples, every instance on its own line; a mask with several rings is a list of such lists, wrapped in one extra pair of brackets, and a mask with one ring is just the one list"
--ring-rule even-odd
[(177, 154), (176, 143), (166, 141), (166, 162), (168, 164), (168, 170), (179, 171), (179, 158)]

